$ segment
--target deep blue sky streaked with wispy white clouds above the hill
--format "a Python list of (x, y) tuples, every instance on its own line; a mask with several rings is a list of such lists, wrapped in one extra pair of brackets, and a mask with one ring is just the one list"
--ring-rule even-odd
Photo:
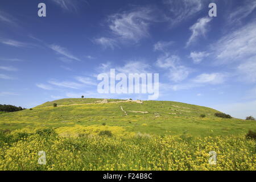
[[(46, 3), (46, 17), (38, 4)], [(209, 3), (217, 17), (209, 17)], [(1, 1), (0, 102), (99, 94), (97, 75), (159, 73), (158, 100), (256, 117), (256, 1)]]

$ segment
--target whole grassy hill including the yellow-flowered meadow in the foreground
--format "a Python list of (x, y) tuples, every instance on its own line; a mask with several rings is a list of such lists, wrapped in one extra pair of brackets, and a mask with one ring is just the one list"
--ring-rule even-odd
[(255, 171), (255, 141), (245, 134), (256, 122), (216, 112), (170, 101), (69, 98), (0, 114), (0, 171)]

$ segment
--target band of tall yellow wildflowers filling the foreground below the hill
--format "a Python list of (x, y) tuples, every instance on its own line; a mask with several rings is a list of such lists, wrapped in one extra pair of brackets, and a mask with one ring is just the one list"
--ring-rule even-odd
[[(245, 137), (103, 136), (0, 133), (0, 170), (256, 170), (255, 143)], [(46, 152), (45, 165), (39, 151)], [(209, 164), (210, 151), (216, 165)]]

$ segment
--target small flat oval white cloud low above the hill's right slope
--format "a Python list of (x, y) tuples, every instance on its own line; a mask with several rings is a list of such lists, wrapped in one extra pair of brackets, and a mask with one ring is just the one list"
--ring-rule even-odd
[(225, 81), (225, 77), (224, 73), (203, 73), (192, 81), (198, 84), (221, 84)]

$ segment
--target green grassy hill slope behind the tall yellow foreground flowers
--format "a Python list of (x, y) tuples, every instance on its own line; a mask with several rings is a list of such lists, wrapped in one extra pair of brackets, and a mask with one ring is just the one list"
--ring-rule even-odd
[[(119, 126), (131, 133), (151, 135), (244, 136), (247, 131), (256, 129), (255, 121), (224, 119), (214, 116), (217, 110), (208, 107), (171, 101), (119, 102), (108, 104), (88, 104), (103, 99), (69, 98), (36, 106), (33, 110), (22, 110), (0, 115), (1, 129), (59, 128), (73, 126)], [(121, 100), (108, 100), (108, 102)], [(57, 106), (53, 107), (53, 103)], [(85, 104), (85, 105), (72, 105)], [(127, 111), (123, 113), (120, 106)], [(129, 111), (147, 111), (147, 114)], [(176, 113), (176, 114), (168, 114)], [(200, 114), (205, 114), (201, 118)]]

